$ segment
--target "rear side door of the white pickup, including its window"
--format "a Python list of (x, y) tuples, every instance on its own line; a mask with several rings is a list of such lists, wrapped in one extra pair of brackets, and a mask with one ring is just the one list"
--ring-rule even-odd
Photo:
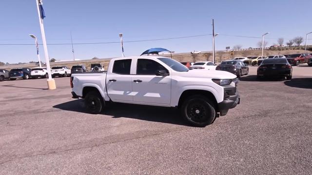
[(107, 72), (106, 88), (113, 102), (133, 101), (131, 63), (132, 59), (115, 60), (113, 68)]

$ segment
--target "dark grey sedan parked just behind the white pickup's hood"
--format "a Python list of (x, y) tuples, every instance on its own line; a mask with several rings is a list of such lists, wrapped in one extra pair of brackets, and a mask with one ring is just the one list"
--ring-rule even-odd
[(249, 73), (249, 68), (240, 60), (228, 60), (219, 64), (215, 70), (228, 71), (235, 74), (238, 78)]

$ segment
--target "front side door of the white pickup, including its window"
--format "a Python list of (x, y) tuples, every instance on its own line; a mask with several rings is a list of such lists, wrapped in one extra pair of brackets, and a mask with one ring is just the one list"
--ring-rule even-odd
[(136, 74), (132, 77), (133, 101), (170, 104), (171, 76), (156, 76), (156, 70), (169, 71), (151, 59), (137, 59)]

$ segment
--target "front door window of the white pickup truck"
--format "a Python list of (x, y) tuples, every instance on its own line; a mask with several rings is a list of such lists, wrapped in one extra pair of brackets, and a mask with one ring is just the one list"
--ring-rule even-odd
[(138, 75), (155, 75), (156, 70), (168, 70), (161, 64), (150, 59), (137, 59), (137, 74)]

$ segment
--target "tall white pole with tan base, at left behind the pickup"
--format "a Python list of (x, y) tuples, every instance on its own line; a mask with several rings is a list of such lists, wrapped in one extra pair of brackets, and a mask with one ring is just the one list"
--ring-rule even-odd
[(52, 90), (52, 89), (56, 89), (56, 84), (55, 84), (54, 79), (52, 79), (52, 75), (51, 75), (50, 60), (49, 60), (47, 42), (45, 40), (43, 19), (41, 18), (41, 12), (40, 12), (40, 9), (39, 9), (39, 0), (36, 0), (36, 3), (37, 3), (37, 11), (38, 11), (40, 31), (41, 31), (41, 37), (42, 37), (43, 50), (44, 50), (44, 57), (45, 57), (45, 62), (47, 64), (48, 77), (49, 77), (48, 80), (47, 80), (48, 88)]

